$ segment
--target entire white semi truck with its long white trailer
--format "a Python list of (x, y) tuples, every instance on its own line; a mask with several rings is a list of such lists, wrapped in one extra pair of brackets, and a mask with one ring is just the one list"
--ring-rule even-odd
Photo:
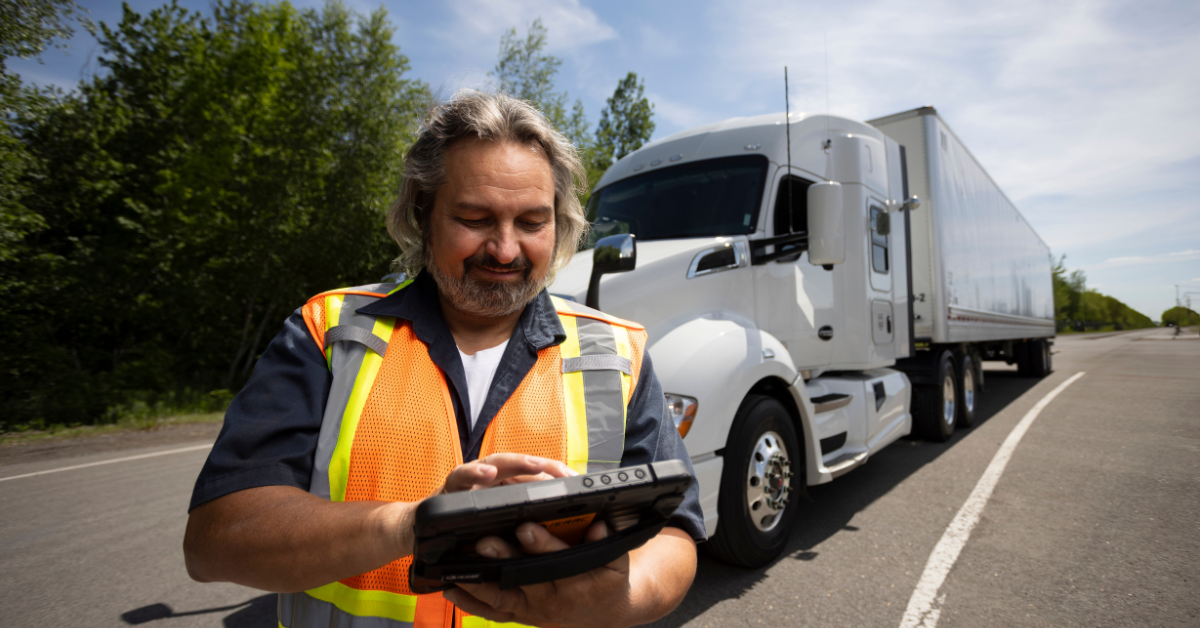
[(798, 494), (974, 421), (983, 360), (1050, 371), (1050, 251), (932, 107), (736, 118), (642, 146), (550, 292), (637, 321), (713, 554), (757, 567)]

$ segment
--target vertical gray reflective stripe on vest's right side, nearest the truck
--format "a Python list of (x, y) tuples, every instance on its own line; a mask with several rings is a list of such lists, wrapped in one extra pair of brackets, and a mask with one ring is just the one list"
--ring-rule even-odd
[[(604, 321), (575, 317), (580, 355), (607, 357), (617, 353), (612, 325)], [(583, 407), (588, 419), (588, 471), (620, 462), (625, 449), (625, 399), (620, 371), (583, 371)]]

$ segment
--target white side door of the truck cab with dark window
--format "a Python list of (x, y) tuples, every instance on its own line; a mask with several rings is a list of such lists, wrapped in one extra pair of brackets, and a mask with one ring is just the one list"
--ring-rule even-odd
[[(780, 168), (768, 195), (769, 237), (808, 231), (808, 189), (812, 181)], [(830, 273), (809, 263), (803, 247), (794, 257), (784, 257), (755, 267), (755, 311), (758, 329), (787, 346), (797, 369), (828, 365), (836, 339), (822, 340), (820, 330), (830, 330), (834, 281)]]

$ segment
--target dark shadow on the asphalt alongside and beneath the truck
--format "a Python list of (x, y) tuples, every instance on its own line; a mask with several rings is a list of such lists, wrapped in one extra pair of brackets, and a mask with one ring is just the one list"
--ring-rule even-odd
[[(1015, 371), (985, 371), (985, 390), (976, 408), (980, 425), (1040, 379), (1019, 377)], [(854, 514), (870, 506), (942, 453), (949, 450), (970, 431), (960, 430), (948, 442), (900, 441), (871, 456), (869, 463), (830, 484), (809, 488), (810, 501), (800, 508), (787, 550), (779, 561), (818, 561), (812, 548), (839, 532), (857, 532), (848, 525)], [(766, 578), (767, 569), (743, 569), (719, 562), (707, 551), (700, 552), (696, 581), (674, 612), (652, 623), (658, 628), (677, 628), (690, 622), (718, 603), (739, 598)]]

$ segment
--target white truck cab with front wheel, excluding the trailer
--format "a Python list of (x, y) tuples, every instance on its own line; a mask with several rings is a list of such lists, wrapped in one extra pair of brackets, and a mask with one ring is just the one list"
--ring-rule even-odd
[(870, 125), (770, 114), (692, 128), (618, 161), (588, 247), (550, 292), (584, 303), (598, 243), (636, 267), (598, 283), (646, 325), (719, 557), (786, 544), (808, 485), (912, 429), (904, 152)]

